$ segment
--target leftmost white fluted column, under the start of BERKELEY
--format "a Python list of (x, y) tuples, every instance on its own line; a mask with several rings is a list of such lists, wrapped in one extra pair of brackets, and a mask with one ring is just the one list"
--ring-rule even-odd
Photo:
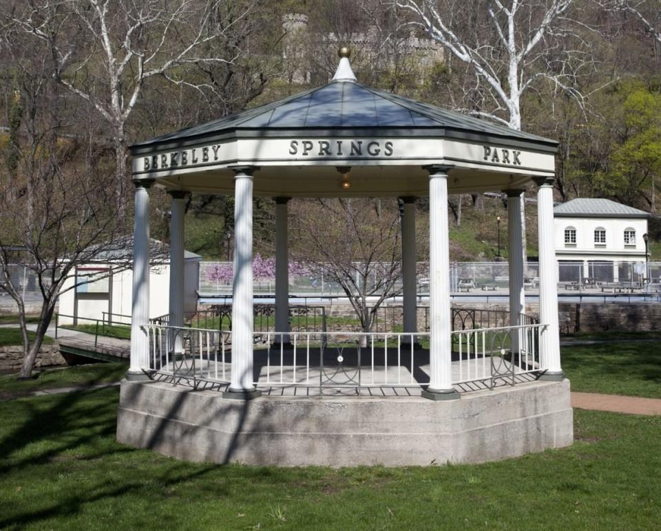
[(127, 380), (149, 380), (149, 186), (153, 180), (134, 181), (133, 299), (131, 312), (131, 360)]

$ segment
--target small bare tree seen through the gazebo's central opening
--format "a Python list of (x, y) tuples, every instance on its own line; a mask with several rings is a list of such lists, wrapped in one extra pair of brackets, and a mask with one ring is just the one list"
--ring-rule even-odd
[(397, 202), (316, 199), (292, 207), (296, 259), (339, 284), (370, 332), (379, 307), (401, 293)]

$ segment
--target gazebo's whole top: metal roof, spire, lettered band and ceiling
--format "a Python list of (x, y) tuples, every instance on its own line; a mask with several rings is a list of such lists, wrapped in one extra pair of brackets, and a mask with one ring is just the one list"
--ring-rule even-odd
[(366, 87), (341, 57), (328, 85), (133, 144), (134, 179), (227, 194), (250, 166), (255, 195), (396, 197), (426, 195), (430, 165), (451, 193), (554, 175), (556, 141)]

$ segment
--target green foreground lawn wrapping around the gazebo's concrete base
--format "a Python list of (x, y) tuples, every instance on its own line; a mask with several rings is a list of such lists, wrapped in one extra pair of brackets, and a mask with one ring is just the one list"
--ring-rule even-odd
[(117, 400), (118, 389), (104, 389), (0, 402), (0, 528), (653, 529), (661, 520), (659, 417), (577, 410), (574, 446), (490, 464), (273, 468), (117, 444)]

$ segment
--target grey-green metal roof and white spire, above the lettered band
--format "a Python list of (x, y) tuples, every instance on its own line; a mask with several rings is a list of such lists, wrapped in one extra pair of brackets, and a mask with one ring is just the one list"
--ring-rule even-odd
[[(348, 65), (348, 60), (343, 59)], [(171, 145), (224, 138), (319, 136), (358, 131), (388, 136), (441, 136), (556, 151), (558, 142), (366, 87), (338, 68), (333, 81), (218, 120), (133, 144), (134, 155)], [(353, 74), (353, 73), (351, 73)]]

